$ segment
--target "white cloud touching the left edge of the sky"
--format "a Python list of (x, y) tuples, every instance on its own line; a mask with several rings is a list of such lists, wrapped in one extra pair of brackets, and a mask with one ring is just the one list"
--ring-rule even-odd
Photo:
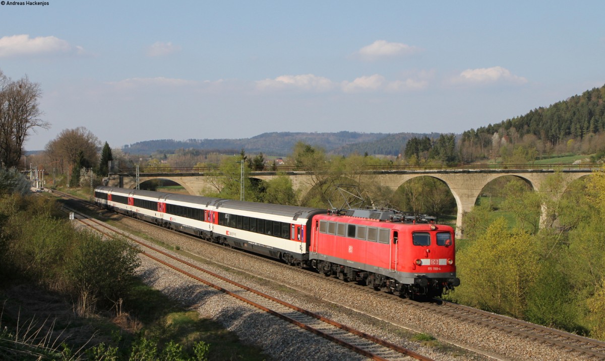
[[(0, 57), (70, 53), (71, 51), (74, 50), (67, 41), (54, 36), (39, 36), (30, 39), (28, 34), (22, 34), (0, 38)], [(81, 54), (83, 49), (78, 46), (75, 52)]]

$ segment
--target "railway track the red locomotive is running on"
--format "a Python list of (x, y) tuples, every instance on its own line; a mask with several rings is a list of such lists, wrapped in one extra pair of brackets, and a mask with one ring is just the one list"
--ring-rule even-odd
[[(185, 236), (191, 237), (188, 235)], [(214, 244), (212, 245), (215, 246)], [(290, 271), (302, 272), (305, 273), (307, 276), (311, 274), (316, 277), (323, 278), (323, 276), (317, 275), (316, 273), (310, 273), (307, 270), (296, 269), (294, 267), (286, 266), (285, 264), (279, 263), (277, 261), (267, 260), (267, 258), (258, 257), (256, 255), (248, 255), (250, 255), (250, 257), (262, 258), (264, 261), (270, 261), (276, 266), (284, 267), (284, 269), (288, 269)], [(215, 260), (212, 261), (215, 262)], [(231, 265), (226, 266), (232, 267)], [(341, 286), (343, 284), (342, 281), (336, 280), (335, 278), (324, 279), (325, 281), (341, 284)], [(346, 285), (347, 287), (354, 287), (358, 290), (358, 292), (371, 293), (374, 296), (378, 296), (379, 298), (399, 298), (395, 295), (389, 295), (388, 293), (378, 293), (371, 289), (368, 289), (368, 287), (359, 286), (356, 284)], [(551, 345), (551, 347), (559, 348), (561, 350), (569, 352), (570, 355), (573, 354), (574, 356), (580, 356), (587, 360), (605, 360), (605, 342), (589, 339), (587, 337), (578, 336), (576, 334), (571, 334), (564, 331), (543, 327), (541, 325), (531, 324), (529, 322), (508, 318), (506, 316), (496, 315), (487, 311), (477, 310), (476, 308), (466, 307), (463, 305), (454, 304), (442, 300), (434, 300), (434, 302), (416, 302), (410, 301), (408, 299), (399, 299), (399, 301), (405, 302), (411, 307), (424, 308), (426, 310), (430, 310), (431, 312), (446, 316), (448, 318), (457, 319), (463, 322), (485, 325), (485, 327), (497, 329), (506, 334), (514, 334), (525, 339), (535, 340), (535, 342), (538, 343)]]

